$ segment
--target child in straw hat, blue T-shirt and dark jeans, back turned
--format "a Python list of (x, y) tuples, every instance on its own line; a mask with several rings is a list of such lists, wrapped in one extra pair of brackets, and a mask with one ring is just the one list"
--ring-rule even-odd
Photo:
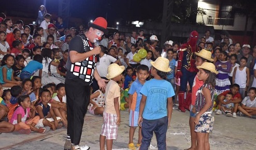
[(147, 81), (140, 90), (142, 97), (138, 124), (142, 127), (143, 137), (140, 149), (148, 149), (153, 131), (158, 141), (158, 149), (166, 149), (166, 131), (173, 112), (172, 97), (175, 93), (172, 84), (164, 78), (171, 69), (167, 58), (158, 57), (150, 63), (154, 79)]

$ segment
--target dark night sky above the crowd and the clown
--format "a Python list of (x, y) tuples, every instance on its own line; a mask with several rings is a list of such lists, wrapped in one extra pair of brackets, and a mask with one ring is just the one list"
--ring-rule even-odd
[[(58, 0), (45, 0), (48, 13), (58, 16)], [(22, 3), (21, 3), (22, 2)], [(17, 4), (17, 5), (15, 5)], [(5, 3), (1, 6), (1, 12), (7, 16), (36, 18), (38, 8), (44, 4), (44, 0), (12, 0), (12, 3)], [(161, 21), (163, 0), (70, 0), (71, 17), (83, 19), (83, 23), (102, 16), (107, 17), (109, 26), (117, 21), (121, 25), (125, 21), (155, 20)]]

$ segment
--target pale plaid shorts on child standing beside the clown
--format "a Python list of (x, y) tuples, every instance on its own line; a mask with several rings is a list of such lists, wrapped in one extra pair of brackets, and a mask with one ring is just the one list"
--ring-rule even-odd
[(108, 140), (116, 140), (117, 139), (117, 131), (118, 125), (117, 122), (117, 115), (116, 114), (109, 114), (104, 112), (103, 113), (104, 123), (102, 125), (102, 132), (101, 135), (105, 136)]

